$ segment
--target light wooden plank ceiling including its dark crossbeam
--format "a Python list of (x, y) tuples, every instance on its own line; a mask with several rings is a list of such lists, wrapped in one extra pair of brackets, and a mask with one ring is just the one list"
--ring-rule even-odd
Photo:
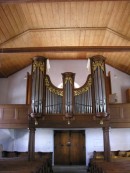
[(68, 60), (99, 54), (130, 75), (130, 1), (0, 0), (0, 77), (38, 55)]

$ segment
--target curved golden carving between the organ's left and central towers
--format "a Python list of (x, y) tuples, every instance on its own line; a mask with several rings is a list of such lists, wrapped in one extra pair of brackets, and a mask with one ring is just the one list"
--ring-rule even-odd
[(48, 80), (48, 77), (45, 78), (45, 86), (49, 89), (50, 92), (56, 94), (56, 95), (60, 95), (60, 96), (63, 96), (63, 91), (62, 90), (59, 90), (58, 88), (54, 88), (51, 86), (49, 80)]

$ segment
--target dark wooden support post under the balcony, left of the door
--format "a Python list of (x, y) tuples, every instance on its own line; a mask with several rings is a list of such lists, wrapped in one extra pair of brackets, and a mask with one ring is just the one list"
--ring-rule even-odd
[(35, 127), (29, 128), (28, 160), (35, 160)]

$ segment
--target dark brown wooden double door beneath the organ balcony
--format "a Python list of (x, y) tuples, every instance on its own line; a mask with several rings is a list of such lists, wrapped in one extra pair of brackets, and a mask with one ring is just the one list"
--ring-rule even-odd
[(85, 131), (66, 130), (54, 133), (54, 164), (85, 165)]

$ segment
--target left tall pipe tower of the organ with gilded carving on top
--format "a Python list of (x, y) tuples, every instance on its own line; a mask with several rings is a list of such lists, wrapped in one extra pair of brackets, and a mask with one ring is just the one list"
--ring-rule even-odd
[(46, 58), (34, 57), (32, 62), (32, 117), (41, 117), (45, 109)]

